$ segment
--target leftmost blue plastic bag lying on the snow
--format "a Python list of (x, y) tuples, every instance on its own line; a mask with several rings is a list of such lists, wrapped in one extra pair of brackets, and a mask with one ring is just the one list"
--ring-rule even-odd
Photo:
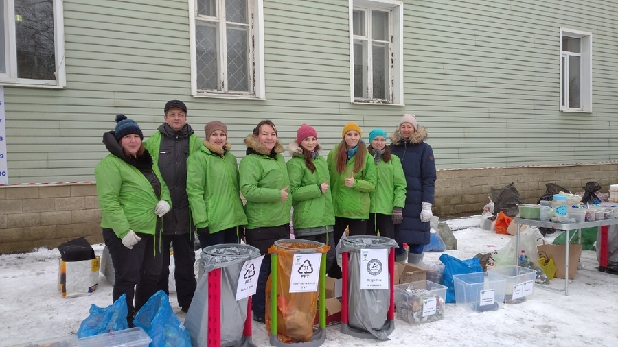
[(99, 335), (110, 331), (128, 329), (126, 322), (126, 294), (116, 302), (102, 309), (95, 304), (90, 307), (90, 315), (82, 321), (77, 332), (78, 338)]

